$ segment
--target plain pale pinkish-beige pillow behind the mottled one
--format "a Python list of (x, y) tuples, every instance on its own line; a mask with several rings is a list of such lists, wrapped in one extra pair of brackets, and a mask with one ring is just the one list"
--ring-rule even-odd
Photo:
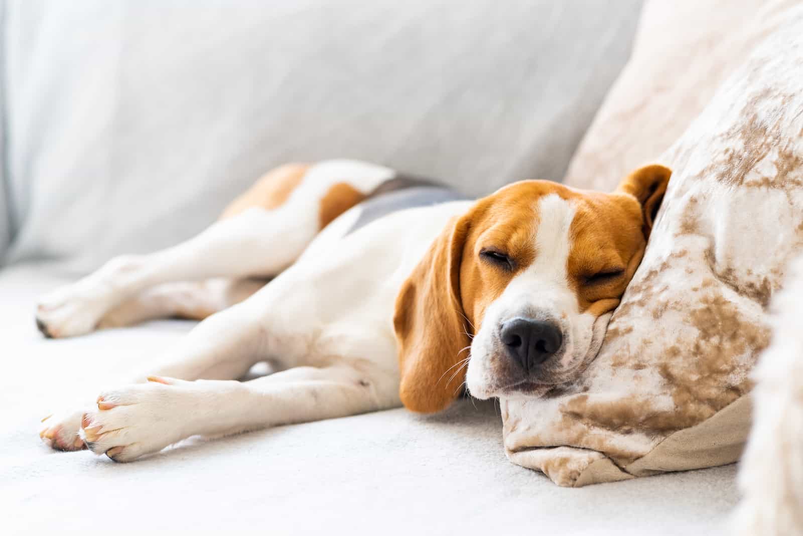
[(586, 132), (565, 182), (609, 191), (655, 160), (719, 84), (800, 0), (651, 0), (633, 56)]

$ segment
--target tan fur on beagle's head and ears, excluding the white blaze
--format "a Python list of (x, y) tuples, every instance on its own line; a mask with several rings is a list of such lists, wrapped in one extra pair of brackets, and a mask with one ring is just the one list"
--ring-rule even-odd
[[(581, 311), (603, 315), (618, 306), (646, 246), (671, 171), (649, 165), (631, 173), (614, 193), (575, 190), (549, 181), (522, 181), (484, 197), (448, 225), (407, 278), (393, 316), (401, 396), (407, 408), (436, 412), (446, 407), (465, 379), (463, 358), (487, 307), (538, 252), (532, 238), (536, 200), (555, 193), (577, 212), (567, 273)], [(623, 195), (624, 194), (624, 195)], [(503, 270), (484, 261), (483, 250), (512, 261)], [(622, 274), (592, 282), (600, 271)]]

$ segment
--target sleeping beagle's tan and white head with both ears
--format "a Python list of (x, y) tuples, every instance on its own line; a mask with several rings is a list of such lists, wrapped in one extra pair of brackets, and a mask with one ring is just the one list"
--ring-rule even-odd
[(451, 221), (402, 285), (396, 331), (407, 408), (457, 396), (539, 396), (597, 355), (641, 262), (671, 171), (613, 193), (522, 181)]

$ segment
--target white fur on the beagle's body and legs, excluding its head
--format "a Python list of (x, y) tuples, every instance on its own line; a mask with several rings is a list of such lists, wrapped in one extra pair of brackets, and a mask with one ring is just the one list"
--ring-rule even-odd
[[(307, 213), (316, 216), (317, 209), (308, 209), (306, 196), (320, 199), (328, 189), (320, 185), (343, 175), (359, 189), (372, 189), (388, 178), (385, 170), (319, 164), (285, 209), (251, 209), (169, 250), (111, 262), (45, 298), (39, 318), (48, 329), (76, 335), (98, 323), (119, 325), (167, 311), (177, 300), (198, 301), (186, 295), (186, 286), (214, 283), (208, 278), (226, 280), (211, 284), (201, 299), (226, 307), (233, 291), (226, 281), (275, 274), (291, 264), (250, 298), (200, 323), (159, 367), (102, 392), (103, 404), (114, 407), (67, 408), (44, 422), (43, 437), (56, 448), (74, 448), (84, 415), (89, 448), (129, 461), (195, 434), (219, 436), (400, 405), (396, 294), (449, 218), (471, 203), (402, 210), (344, 236), (357, 207), (315, 235)], [(287, 370), (233, 381), (262, 360)], [(146, 375), (168, 384), (137, 383)]]

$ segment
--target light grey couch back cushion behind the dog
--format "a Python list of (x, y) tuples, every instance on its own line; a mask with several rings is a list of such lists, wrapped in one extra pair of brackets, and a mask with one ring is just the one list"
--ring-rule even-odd
[(640, 5), (9, 0), (10, 259), (173, 245), (287, 161), (559, 179)]

